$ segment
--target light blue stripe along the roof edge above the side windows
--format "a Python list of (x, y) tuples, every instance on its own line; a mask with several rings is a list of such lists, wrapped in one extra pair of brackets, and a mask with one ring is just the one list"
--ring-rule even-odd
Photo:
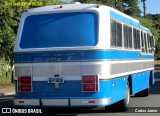
[(126, 24), (132, 25), (132, 26), (134, 26), (136, 28), (139, 28), (139, 29), (142, 29), (144, 31), (147, 31), (147, 32), (151, 33), (151, 31), (149, 29), (141, 27), (139, 22), (133, 21), (133, 20), (131, 20), (131, 19), (127, 18), (127, 17), (124, 17), (124, 16), (122, 16), (122, 15), (120, 15), (120, 14), (114, 12), (114, 11), (110, 11), (110, 16), (112, 18), (117, 19), (119, 21), (122, 21), (122, 22), (124, 22)]

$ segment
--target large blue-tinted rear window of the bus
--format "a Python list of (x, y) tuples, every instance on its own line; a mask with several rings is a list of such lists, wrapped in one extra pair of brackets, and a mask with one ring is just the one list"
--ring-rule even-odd
[(94, 12), (55, 13), (28, 16), (20, 47), (77, 47), (97, 44), (98, 17)]

